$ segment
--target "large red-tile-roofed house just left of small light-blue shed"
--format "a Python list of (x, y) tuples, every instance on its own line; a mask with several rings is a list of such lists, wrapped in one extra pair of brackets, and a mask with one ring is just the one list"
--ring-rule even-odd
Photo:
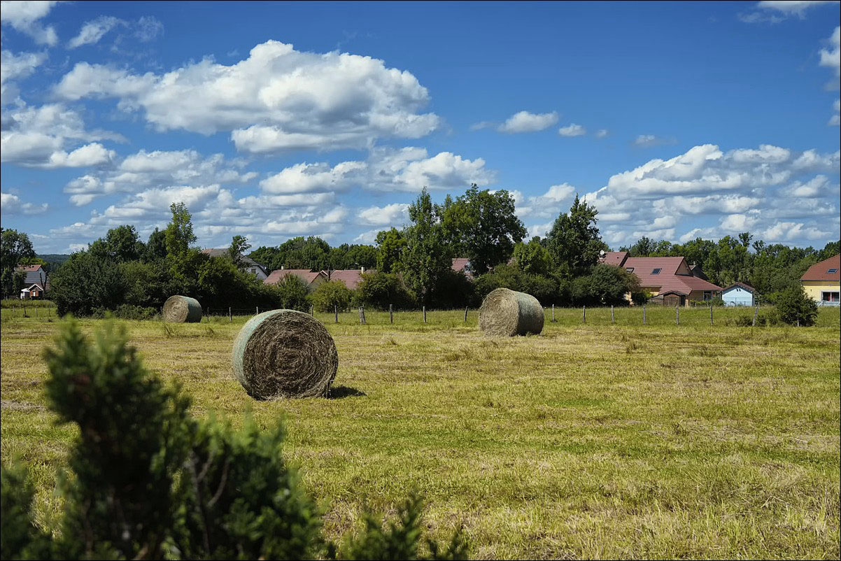
[(637, 276), (655, 302), (663, 304), (688, 306), (690, 300), (711, 300), (722, 291), (722, 287), (694, 276), (685, 257), (628, 257), (627, 251), (610, 251), (600, 262), (624, 267)]

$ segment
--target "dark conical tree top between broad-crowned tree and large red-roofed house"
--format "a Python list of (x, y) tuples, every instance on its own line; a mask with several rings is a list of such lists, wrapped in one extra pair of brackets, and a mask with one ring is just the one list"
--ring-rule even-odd
[(563, 276), (589, 272), (599, 261), (599, 252), (607, 250), (595, 223), (599, 211), (575, 195), (569, 213), (555, 220), (546, 236), (546, 248)]

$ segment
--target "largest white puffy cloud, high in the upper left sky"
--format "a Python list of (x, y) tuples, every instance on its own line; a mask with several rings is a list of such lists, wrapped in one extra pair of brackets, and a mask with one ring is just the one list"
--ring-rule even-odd
[(117, 98), (160, 131), (230, 131), (237, 150), (249, 153), (365, 148), (380, 137), (419, 138), (440, 121), (421, 113), (429, 93), (409, 71), (274, 40), (231, 66), (204, 59), (161, 75), (80, 62), (54, 93)]

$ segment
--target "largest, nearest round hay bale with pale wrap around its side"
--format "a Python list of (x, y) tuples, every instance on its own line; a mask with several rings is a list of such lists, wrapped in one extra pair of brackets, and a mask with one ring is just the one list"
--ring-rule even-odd
[(325, 326), (295, 310), (252, 317), (236, 336), (233, 354), (236, 378), (257, 400), (325, 395), (339, 368)]

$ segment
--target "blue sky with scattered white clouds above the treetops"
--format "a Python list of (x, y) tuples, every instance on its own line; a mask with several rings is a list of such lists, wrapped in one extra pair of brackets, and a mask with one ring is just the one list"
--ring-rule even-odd
[(838, 2), (3, 2), (2, 222), (372, 242), (423, 186), (605, 241), (839, 237)]

